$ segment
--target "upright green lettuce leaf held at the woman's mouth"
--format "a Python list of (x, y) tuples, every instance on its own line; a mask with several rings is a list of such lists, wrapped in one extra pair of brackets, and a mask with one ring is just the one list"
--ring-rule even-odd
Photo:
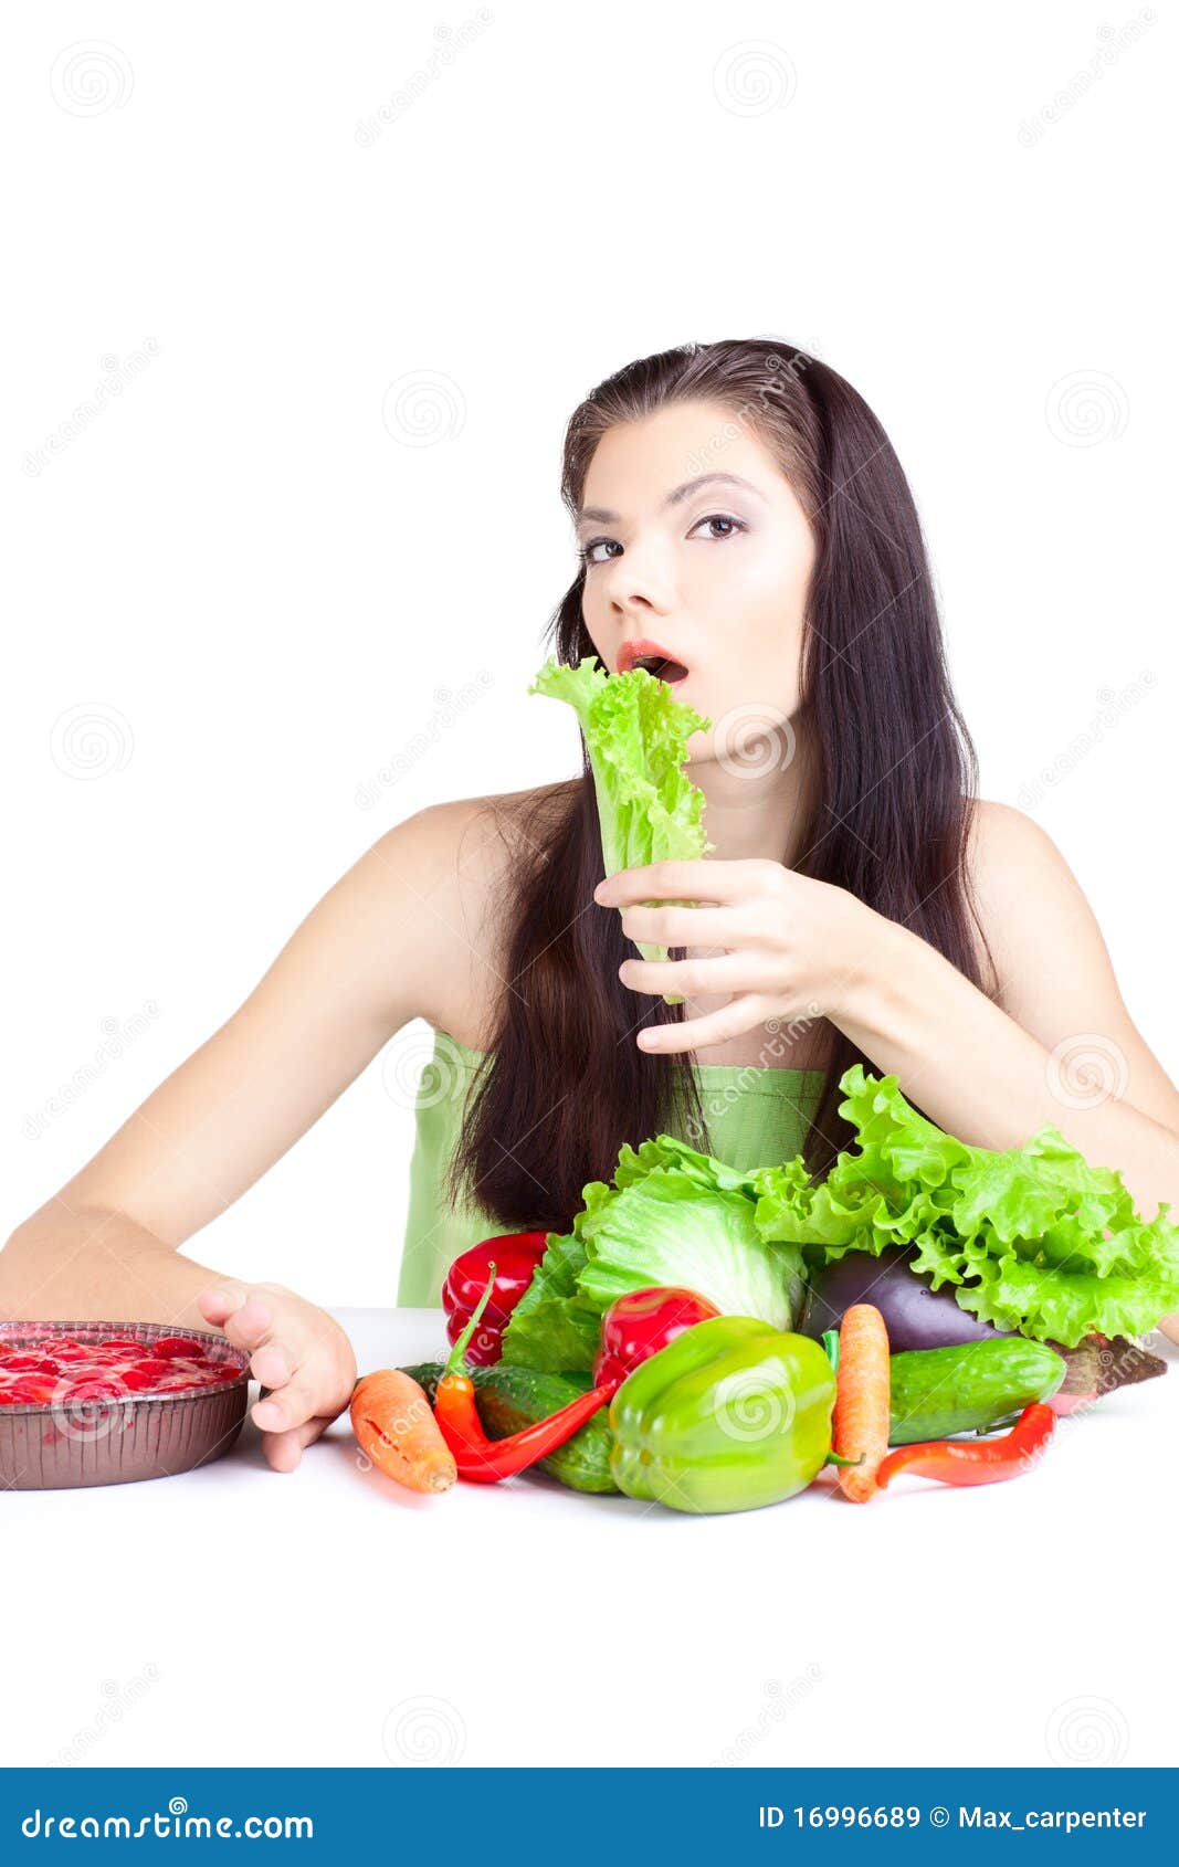
[[(594, 773), (605, 874), (646, 863), (695, 863), (716, 844), (704, 836), (704, 793), (680, 771), (693, 732), (712, 721), (682, 706), (667, 681), (632, 668), (607, 674), (596, 655), (577, 667), (546, 661), (529, 693), (568, 700)], [(635, 941), (645, 960), (667, 947)], [(682, 1003), (667, 995), (669, 1004)]]

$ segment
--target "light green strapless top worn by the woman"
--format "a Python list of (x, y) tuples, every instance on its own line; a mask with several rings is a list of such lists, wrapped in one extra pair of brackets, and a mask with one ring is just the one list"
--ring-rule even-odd
[[(435, 1031), (433, 1057), (422, 1070), (415, 1103), (415, 1143), (409, 1161), (409, 1212), (398, 1303), (433, 1307), (450, 1264), (503, 1227), (478, 1206), (443, 1204), (443, 1182), (458, 1143), (463, 1102), (484, 1051), (467, 1049), (447, 1031)], [(802, 1152), (818, 1107), (822, 1070), (768, 1070), (757, 1064), (704, 1062), (693, 1066), (704, 1120), (717, 1159), (738, 1172), (774, 1167)]]

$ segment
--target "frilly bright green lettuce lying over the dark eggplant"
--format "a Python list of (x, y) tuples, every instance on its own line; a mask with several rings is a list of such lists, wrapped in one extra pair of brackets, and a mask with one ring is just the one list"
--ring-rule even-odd
[(757, 1230), (805, 1245), (811, 1268), (845, 1251), (910, 1245), (912, 1270), (998, 1329), (1076, 1346), (1142, 1335), (1179, 1309), (1179, 1228), (1145, 1221), (1121, 1174), (1091, 1167), (1056, 1128), (992, 1152), (942, 1133), (895, 1075), (843, 1077), (839, 1113), (858, 1130), (826, 1180), (802, 1159), (764, 1171)]

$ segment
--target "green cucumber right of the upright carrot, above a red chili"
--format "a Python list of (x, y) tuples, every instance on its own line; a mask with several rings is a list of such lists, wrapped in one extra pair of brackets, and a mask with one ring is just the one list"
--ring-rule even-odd
[(908, 1348), (889, 1355), (889, 1445), (985, 1432), (1065, 1378), (1065, 1361), (1024, 1335), (987, 1337), (957, 1348)]

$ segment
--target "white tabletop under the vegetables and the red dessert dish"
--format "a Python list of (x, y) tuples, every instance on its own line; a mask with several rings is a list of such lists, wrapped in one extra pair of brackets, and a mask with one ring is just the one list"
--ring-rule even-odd
[[(437, 1311), (334, 1311), (362, 1370)], [(420, 1499), (348, 1417), (295, 1473), (0, 1499), (7, 1764), (1173, 1764), (1168, 1376), (1028, 1477), (691, 1518), (549, 1479)], [(256, 1389), (252, 1389), (252, 1398)]]

